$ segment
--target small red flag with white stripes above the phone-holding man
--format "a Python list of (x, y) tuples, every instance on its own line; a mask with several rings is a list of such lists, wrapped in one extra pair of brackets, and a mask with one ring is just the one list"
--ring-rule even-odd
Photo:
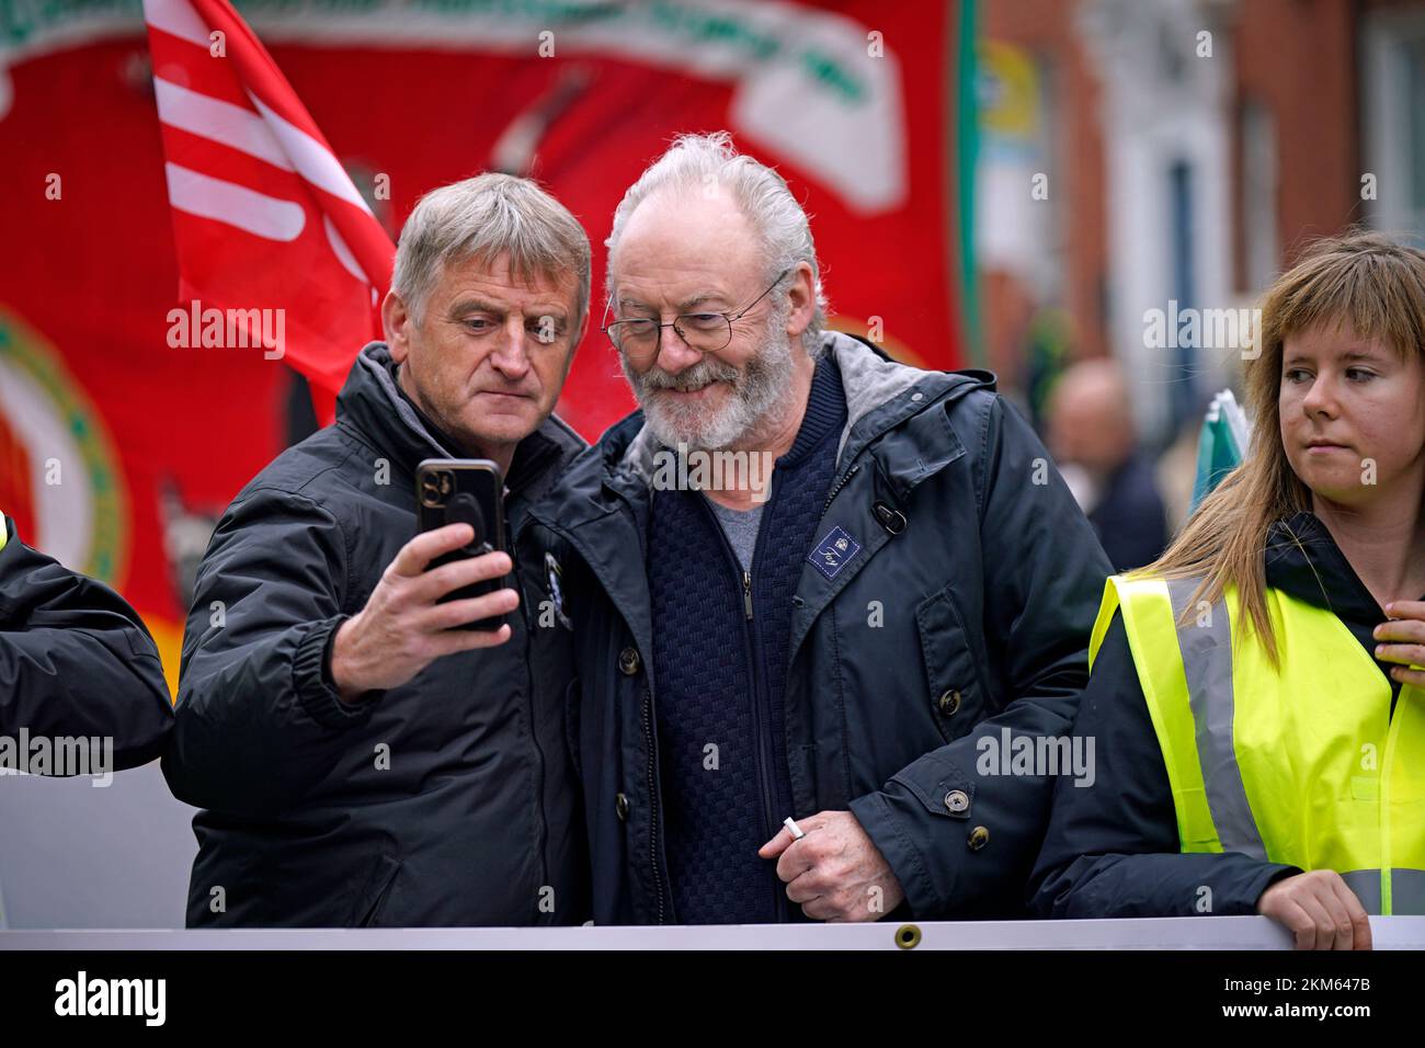
[(390, 237), (228, 0), (144, 0), (144, 21), (178, 245), (170, 345), (286, 359), (329, 422), (380, 338)]

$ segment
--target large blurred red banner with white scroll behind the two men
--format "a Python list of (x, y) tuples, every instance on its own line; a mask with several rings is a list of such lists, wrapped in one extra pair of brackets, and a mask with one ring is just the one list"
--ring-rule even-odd
[[(580, 4), (234, 3), (352, 181), (389, 175), (389, 200), (368, 197), (386, 230), (436, 185), (490, 168), (530, 174), (589, 231), (597, 321), (603, 241), (620, 197), (674, 134), (728, 128), (740, 148), (781, 170), (812, 214), (834, 327), (925, 366), (965, 362), (953, 268), (963, 198), (946, 141), (963, 115), (946, 97), (955, 78), (945, 63), (962, 50), (958, 4), (687, 0), (678, 17), (667, 4), (600, 4), (601, 17), (589, 19)], [(333, 222), (369, 220), (309, 190), (289, 174), (292, 160), (271, 165), (154, 118), (151, 66), (244, 117), (256, 111), (235, 53), (259, 48), (225, 31), (225, 57), (215, 57), (202, 9), (190, 10), (191, 33), (180, 36), (145, 33), (137, 4), (131, 21), (104, 3), (20, 7), (33, 24), (7, 36), (0, 0), (0, 230), (7, 242), (44, 251), (0, 252), (0, 418), (10, 431), (0, 433), (0, 508), (28, 516), (27, 540), (120, 589), (177, 680), (185, 572), (289, 432), (289, 376), (261, 351), (165, 345), (180, 271), (188, 287), (201, 287), (197, 264), (221, 261), (227, 272), (217, 275), (228, 279), (265, 275), (295, 321), (315, 308), (304, 302), (325, 301), (318, 295), (331, 294), (333, 275), (346, 278), (339, 265), (314, 277), (332, 257), (316, 201), (341, 205)], [(557, 33), (550, 57), (536, 50), (546, 29)], [(227, 87), (212, 86), (218, 74)], [(294, 107), (278, 108), (262, 87), (254, 94), (296, 123)], [(74, 113), (86, 118), (66, 117)], [(190, 154), (175, 155), (175, 144)], [(296, 244), (174, 212), (165, 158), (301, 202), (312, 251), (286, 265)], [(249, 171), (285, 181), (264, 188)], [(181, 267), (175, 221), (181, 232), (215, 235), (201, 251), (184, 240)], [(358, 235), (341, 235), (356, 255)], [(255, 295), (234, 298), (262, 305)], [(218, 305), (215, 292), (202, 301)], [(365, 324), (369, 299), (356, 314), (331, 315)], [(336, 361), (335, 388), (375, 325), (351, 338), (311, 327)], [(613, 346), (590, 327), (560, 413), (596, 438), (634, 402)], [(295, 322), (288, 341), (292, 361)], [(51, 459), (63, 463), (63, 483), (50, 483)]]

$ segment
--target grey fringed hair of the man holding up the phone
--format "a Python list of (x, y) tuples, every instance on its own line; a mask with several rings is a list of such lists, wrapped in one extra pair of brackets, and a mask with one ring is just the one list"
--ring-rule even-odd
[(577, 332), (589, 311), (589, 234), (529, 178), (486, 173), (422, 197), (400, 230), (390, 288), (420, 324), (446, 262), (493, 261), (502, 254), (509, 254), (510, 274), (524, 282), (557, 281), (574, 271), (570, 331)]

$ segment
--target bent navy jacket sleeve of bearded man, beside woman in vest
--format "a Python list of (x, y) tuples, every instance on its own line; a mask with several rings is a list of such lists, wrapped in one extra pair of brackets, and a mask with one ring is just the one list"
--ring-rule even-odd
[[(989, 402), (966, 438), (979, 452), (983, 635), (1003, 702), (965, 737), (851, 803), (922, 920), (1023, 914), (1056, 776), (1046, 767), (1002, 774), (996, 754), (1006, 739), (1013, 750), (1069, 733), (1112, 573), (1049, 452), (1003, 399)], [(956, 790), (969, 806), (948, 817), (942, 798)]]

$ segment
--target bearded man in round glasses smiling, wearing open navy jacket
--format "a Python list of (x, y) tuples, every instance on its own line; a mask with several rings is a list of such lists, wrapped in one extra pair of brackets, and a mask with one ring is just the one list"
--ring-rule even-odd
[(1110, 570), (1043, 446), (992, 375), (824, 332), (807, 215), (727, 134), (608, 251), (641, 412), (534, 510), (596, 921), (1020, 914)]

